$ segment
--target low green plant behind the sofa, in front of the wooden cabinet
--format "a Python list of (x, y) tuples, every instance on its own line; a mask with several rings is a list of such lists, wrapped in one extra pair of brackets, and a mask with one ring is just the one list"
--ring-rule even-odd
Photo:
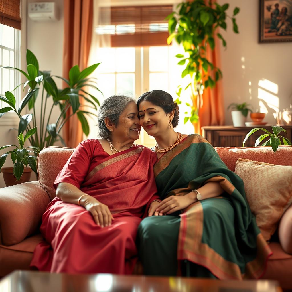
[(260, 137), (258, 137), (258, 139), (256, 140), (256, 143), (255, 143), (255, 146), (260, 145), (260, 143), (263, 142), (263, 140), (267, 139), (265, 142), (263, 142), (263, 144), (261, 146), (271, 146), (273, 151), (276, 152), (279, 145), (282, 145), (280, 138), (282, 138), (284, 145), (291, 146), (291, 141), (289, 141), (289, 139), (279, 135), (281, 132), (286, 133), (286, 130), (280, 126), (272, 126), (272, 133), (270, 133), (268, 130), (266, 130), (264, 128), (254, 128), (251, 131), (249, 131), (247, 133), (246, 137), (244, 138), (244, 141), (242, 143), (242, 147), (244, 147), (244, 143), (246, 142), (248, 137), (259, 130), (266, 132), (266, 134), (263, 134)]

